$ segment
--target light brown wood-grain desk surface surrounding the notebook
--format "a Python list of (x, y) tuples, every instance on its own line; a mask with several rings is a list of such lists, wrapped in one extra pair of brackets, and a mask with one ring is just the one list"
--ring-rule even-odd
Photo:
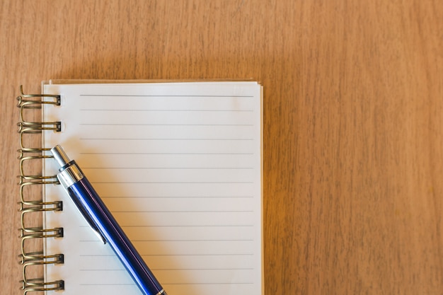
[(266, 294), (442, 294), (443, 2), (0, 3), (0, 286), (21, 294), (20, 84), (264, 86)]

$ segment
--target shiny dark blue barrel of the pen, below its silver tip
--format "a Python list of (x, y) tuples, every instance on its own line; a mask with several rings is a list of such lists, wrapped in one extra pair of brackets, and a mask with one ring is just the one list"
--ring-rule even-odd
[(132, 245), (125, 232), (119, 226), (108, 207), (93, 189), (87, 178), (81, 178), (78, 182), (67, 187), (69, 195), (74, 202), (83, 207), (84, 214), (96, 224), (98, 231), (109, 243), (117, 257), (130, 273), (134, 282), (144, 295), (166, 295), (161, 284), (149, 270), (142, 257)]

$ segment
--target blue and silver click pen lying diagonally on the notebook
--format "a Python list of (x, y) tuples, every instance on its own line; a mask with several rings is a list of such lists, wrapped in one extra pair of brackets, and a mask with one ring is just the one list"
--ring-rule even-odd
[(62, 146), (54, 146), (51, 153), (60, 166), (59, 182), (103, 243), (114, 250), (142, 294), (167, 295), (77, 163), (69, 160)]

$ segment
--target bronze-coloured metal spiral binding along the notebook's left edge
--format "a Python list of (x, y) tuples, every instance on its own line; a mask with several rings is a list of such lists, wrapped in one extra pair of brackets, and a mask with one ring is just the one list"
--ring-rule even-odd
[[(20, 175), (18, 176), (20, 185), (20, 212), (21, 212), (21, 265), (23, 265), (23, 294), (31, 291), (51, 291), (63, 290), (64, 281), (57, 280), (54, 282), (45, 282), (42, 277), (30, 278), (29, 272), (35, 271), (35, 267), (42, 265), (60, 264), (64, 262), (63, 254), (45, 255), (43, 251), (27, 250), (30, 248), (27, 244), (35, 239), (43, 238), (61, 238), (63, 236), (62, 228), (44, 229), (42, 226), (33, 226), (32, 221), (38, 220), (42, 212), (62, 211), (62, 202), (43, 202), (42, 190), (38, 192), (35, 187), (47, 184), (58, 183), (56, 175), (43, 176), (41, 173), (28, 172), (29, 164), (33, 161), (43, 161), (52, 156), (46, 156), (46, 151), (50, 149), (42, 148), (42, 146), (28, 146), (28, 142), (35, 139), (32, 137), (40, 137), (43, 131), (53, 130), (60, 131), (60, 122), (33, 122), (26, 120), (26, 112), (41, 109), (42, 105), (60, 105), (60, 96), (42, 95), (42, 94), (25, 94), (23, 86), (20, 87), (21, 95), (17, 97), (18, 108), (20, 108), (20, 122), (18, 122), (18, 133), (20, 134), (20, 149), (18, 150), (20, 160)], [(32, 165), (31, 165), (32, 166)], [(37, 214), (40, 214), (38, 216)]]

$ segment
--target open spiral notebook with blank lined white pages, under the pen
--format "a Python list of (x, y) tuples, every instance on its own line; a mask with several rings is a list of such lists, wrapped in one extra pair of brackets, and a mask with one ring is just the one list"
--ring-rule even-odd
[[(54, 178), (48, 149), (61, 144), (169, 295), (263, 294), (260, 84), (49, 81), (42, 93), (19, 97), (25, 291), (141, 294)], [(42, 122), (28, 120), (40, 106)], [(36, 134), (42, 146), (26, 146)], [(42, 175), (28, 175), (36, 159)]]

